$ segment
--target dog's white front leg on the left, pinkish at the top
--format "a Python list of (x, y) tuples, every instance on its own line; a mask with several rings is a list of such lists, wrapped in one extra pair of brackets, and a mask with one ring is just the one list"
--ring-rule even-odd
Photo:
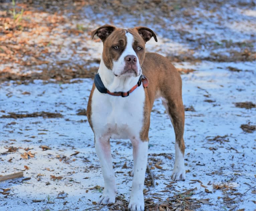
[(116, 189), (109, 137), (95, 137), (95, 149), (100, 160), (105, 183), (103, 194), (98, 201), (98, 204), (113, 204), (115, 203)]

